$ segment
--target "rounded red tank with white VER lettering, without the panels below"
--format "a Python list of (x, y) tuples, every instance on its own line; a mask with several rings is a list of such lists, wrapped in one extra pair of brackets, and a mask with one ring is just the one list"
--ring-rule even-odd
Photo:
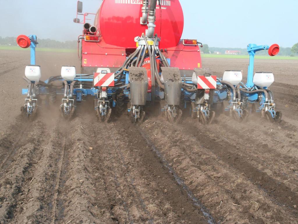
[[(160, 48), (175, 47), (182, 35), (184, 17), (179, 0), (160, 0), (156, 7), (155, 33), (162, 37)], [(134, 38), (148, 29), (140, 24), (142, 0), (104, 0), (95, 17), (105, 43), (135, 48)]]

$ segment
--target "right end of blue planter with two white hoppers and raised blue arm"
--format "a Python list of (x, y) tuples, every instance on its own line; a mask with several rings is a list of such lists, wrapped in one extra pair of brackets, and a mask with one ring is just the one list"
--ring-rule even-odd
[[(268, 45), (249, 44), (249, 66), (247, 82), (242, 82), (242, 72), (227, 70), (222, 79), (217, 79), (217, 89), (215, 90), (214, 104), (221, 103), (226, 115), (231, 115), (235, 120), (246, 120), (249, 112), (260, 112), (263, 117), (270, 121), (280, 122), (282, 113), (275, 110), (273, 93), (270, 85), (274, 82), (271, 72), (254, 72), (254, 56), (257, 51), (268, 50), (270, 56), (275, 56), (279, 52), (277, 44)], [(251, 105), (249, 108), (248, 105)], [(250, 110), (250, 111), (249, 111)]]

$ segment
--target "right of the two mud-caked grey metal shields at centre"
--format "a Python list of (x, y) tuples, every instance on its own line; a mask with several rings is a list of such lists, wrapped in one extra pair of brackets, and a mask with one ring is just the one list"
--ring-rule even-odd
[(164, 98), (167, 105), (179, 105), (181, 96), (181, 75), (179, 68), (161, 67), (164, 80)]

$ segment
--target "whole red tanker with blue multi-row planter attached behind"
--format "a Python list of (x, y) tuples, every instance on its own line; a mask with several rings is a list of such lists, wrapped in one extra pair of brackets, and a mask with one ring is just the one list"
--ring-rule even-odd
[[(273, 119), (281, 116), (274, 110), (268, 85), (252, 85), (251, 76), (246, 85), (226, 79), (232, 72), (221, 80), (201, 68), (202, 43), (181, 39), (184, 17), (179, 0), (103, 0), (97, 13), (82, 12), (83, 3), (77, 1), (73, 21), (82, 24), (78, 36), (80, 73), (74, 66), (63, 66), (60, 75), (42, 82), (40, 67), (31, 61), (24, 77), (28, 89), (23, 89), (27, 98), (22, 111), (27, 116), (36, 113), (43, 94), (49, 101), (55, 101), (57, 94), (62, 96), (59, 110), (65, 118), (71, 118), (87, 99), (92, 99), (89, 106), (99, 121), (108, 121), (112, 111), (126, 111), (132, 122), (142, 122), (145, 111), (159, 105), (160, 113), (170, 122), (178, 122), (182, 110), (190, 108), (193, 118), (210, 124), (215, 103), (222, 103), (226, 113), (236, 116), (237, 112), (243, 118), (246, 102), (256, 106), (257, 101), (260, 105), (255, 111), (265, 108), (265, 114), (270, 112)], [(89, 23), (92, 19), (94, 25)], [(30, 46), (35, 59), (36, 36), (21, 35), (18, 44)], [(254, 52), (259, 48), (251, 47), (253, 68)]]

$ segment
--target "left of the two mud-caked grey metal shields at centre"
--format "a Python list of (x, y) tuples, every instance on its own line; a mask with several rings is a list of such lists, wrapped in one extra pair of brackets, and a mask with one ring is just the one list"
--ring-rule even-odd
[(143, 67), (129, 67), (131, 105), (146, 105), (148, 76)]

